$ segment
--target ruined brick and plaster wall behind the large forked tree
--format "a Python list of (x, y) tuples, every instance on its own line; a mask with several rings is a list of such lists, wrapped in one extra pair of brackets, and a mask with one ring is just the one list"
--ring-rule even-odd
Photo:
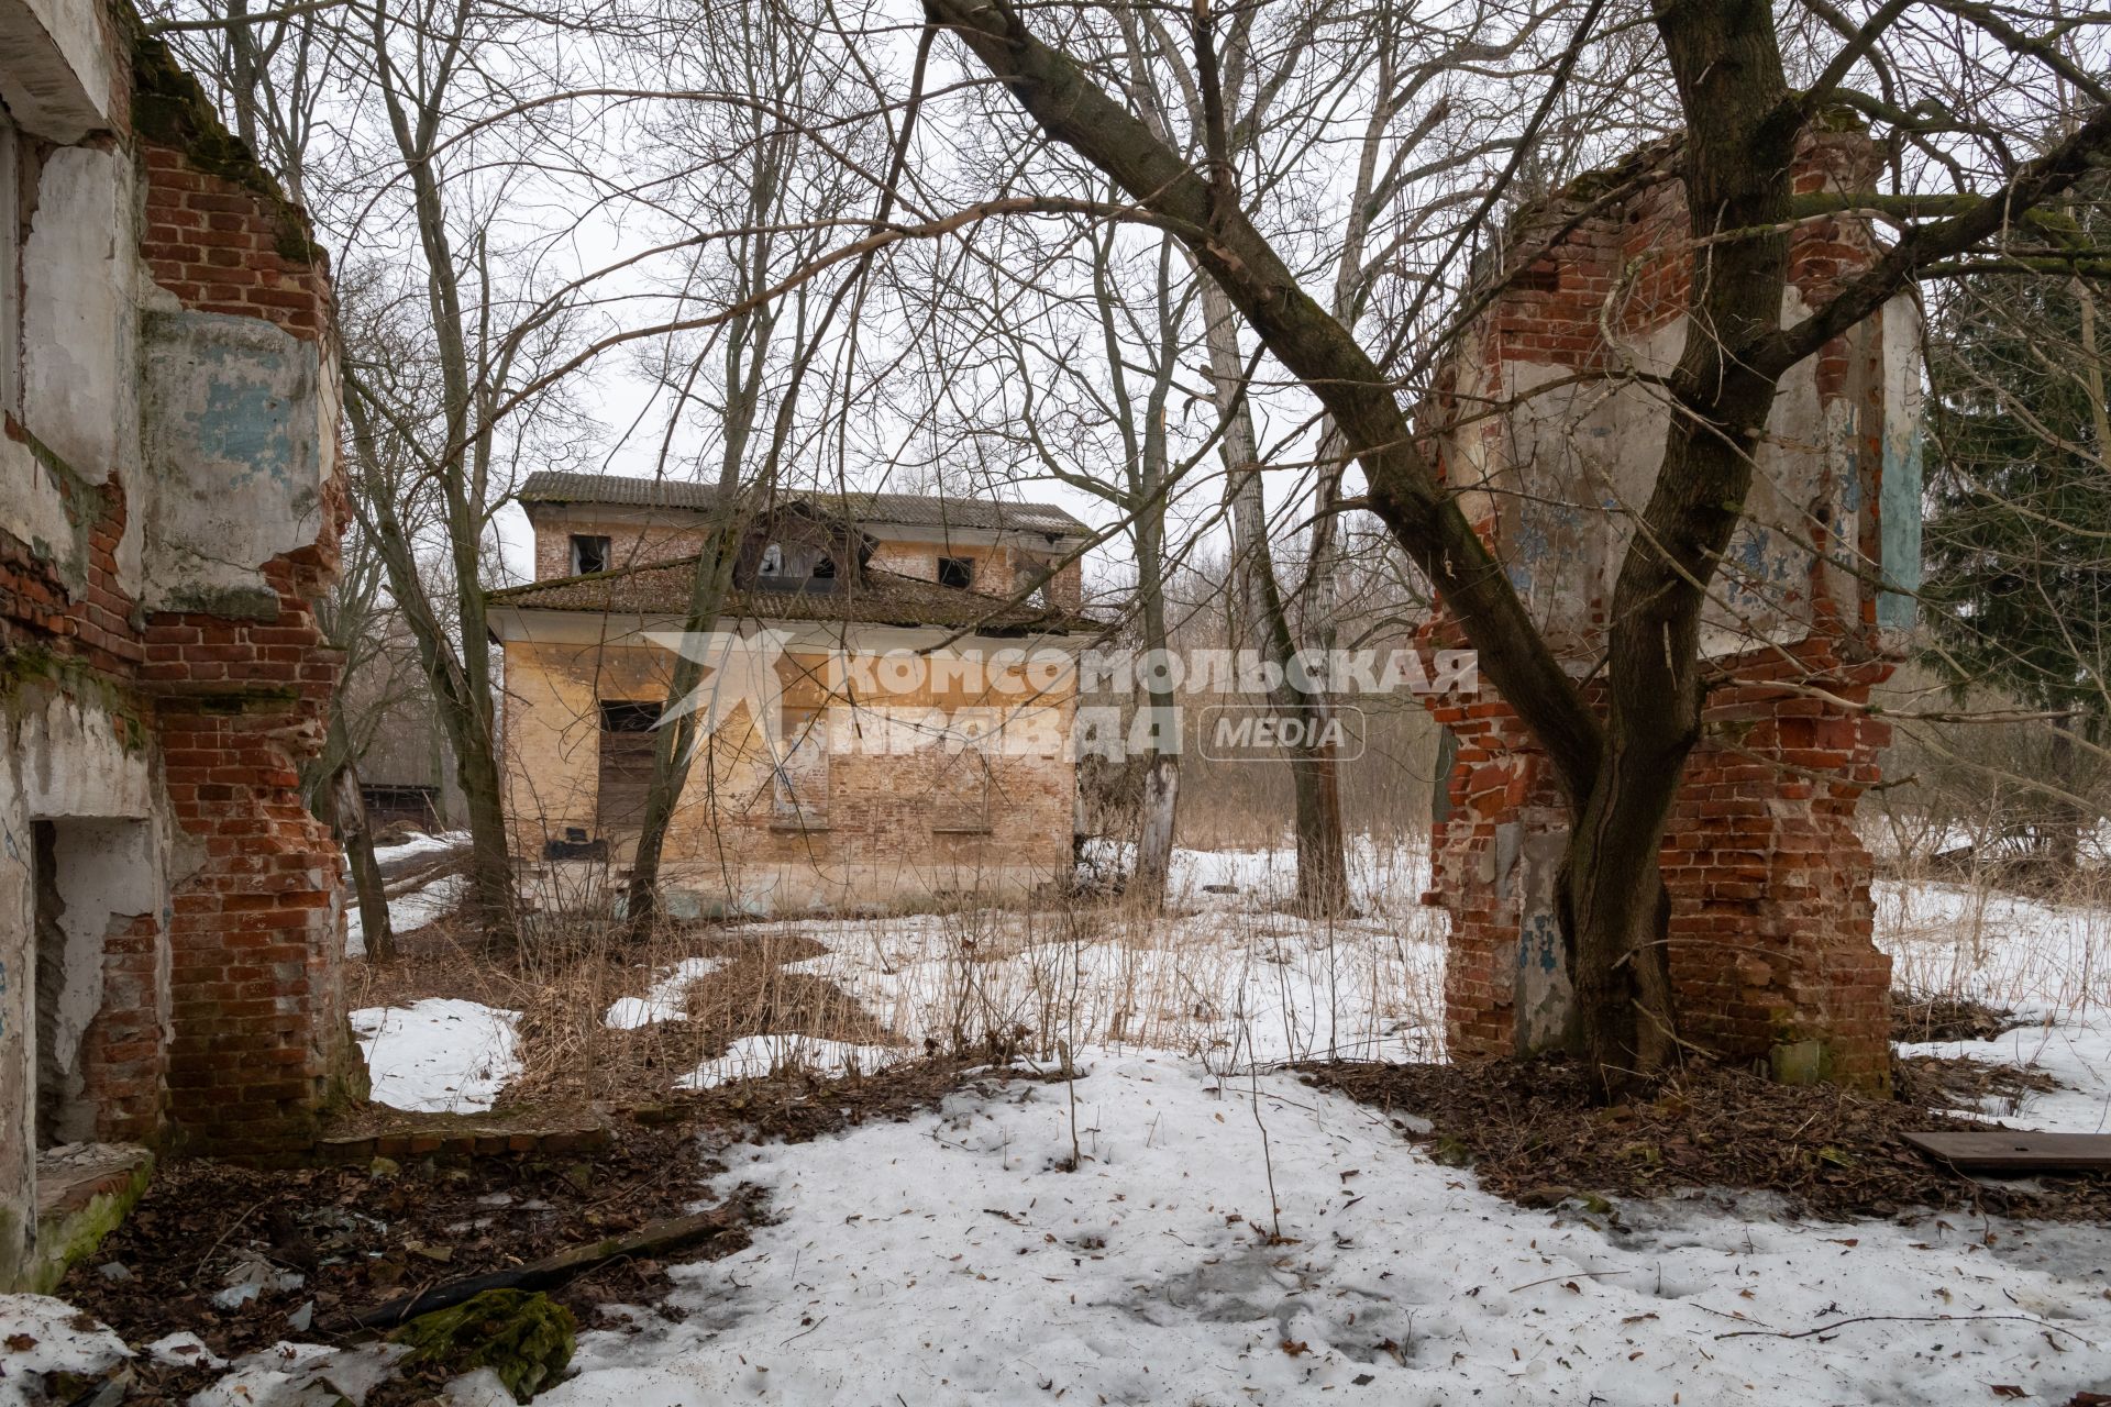
[[(1514, 403), (1450, 432), (1444, 470), (1579, 677), (1602, 650), (1630, 532), (1606, 504), (1647, 500), (1663, 443), (1668, 411), (1625, 371), (1668, 369), (1685, 338), (1693, 262), (1670, 158), (1642, 152), (1516, 230), (1514, 259), (1530, 262), (1448, 371), (1452, 409)], [(1860, 190), (1872, 175), (1866, 139), (1820, 133), (1796, 190)], [(1872, 255), (1862, 221), (1799, 224), (1784, 319)], [(1917, 329), (1900, 300), (1784, 380), (1708, 612), (1723, 683), (1663, 840), (1680, 1036), (1782, 1078), (1889, 1080), (1889, 960), (1870, 941), (1870, 863), (1851, 825), (1889, 738), (1851, 705), (1896, 658), (1898, 597), (1866, 567), (1917, 580), (1917, 538), (1885, 521), (1917, 515)], [(1442, 618), (1431, 635), (1459, 643)], [(1554, 894), (1566, 802), (1492, 690), (1431, 711), (1459, 745), (1429, 894), (1452, 920), (1450, 1051), (1560, 1048), (1573, 1036)]]

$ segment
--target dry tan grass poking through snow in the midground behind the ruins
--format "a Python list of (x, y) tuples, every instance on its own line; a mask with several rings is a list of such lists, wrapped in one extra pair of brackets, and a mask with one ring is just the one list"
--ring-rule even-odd
[[(403, 939), (403, 958), (353, 968), (357, 1006), (460, 996), (524, 1013), (513, 1097), (640, 1103), (665, 1097), (743, 1036), (927, 1053), (1058, 1059), (1148, 1046), (1245, 1069), (1328, 1057), (1442, 1057), (1442, 918), (1421, 909), (1421, 840), (1357, 842), (1364, 913), (1315, 924), (1281, 911), (1292, 856), (1262, 837), (1201, 856), (1169, 913), (1121, 897), (1051, 897), (859, 920), (663, 924), (638, 941), (602, 894), (543, 915), (524, 953), (492, 951), (460, 920)], [(1273, 856), (1273, 859), (1267, 859)], [(1927, 1038), (1982, 1002), (2041, 1017), (2111, 1000), (2111, 880), (2058, 897), (1959, 882), (1925, 852), (1891, 856), (1875, 886), (1877, 941)], [(688, 972), (684, 981), (682, 975)], [(650, 1021), (610, 1023), (619, 1002)], [(1940, 1027), (1940, 1034), (1938, 1034)], [(790, 1059), (800, 1059), (796, 1042)]]

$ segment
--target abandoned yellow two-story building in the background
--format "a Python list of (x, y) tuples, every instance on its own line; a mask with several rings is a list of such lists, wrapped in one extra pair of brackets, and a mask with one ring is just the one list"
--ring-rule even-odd
[(536, 580), (494, 593), (515, 861), (545, 905), (638, 844), (678, 650), (705, 719), (667, 829), (673, 913), (1015, 897), (1072, 867), (1089, 529), (1062, 508), (781, 496), (682, 639), (711, 489), (538, 473)]

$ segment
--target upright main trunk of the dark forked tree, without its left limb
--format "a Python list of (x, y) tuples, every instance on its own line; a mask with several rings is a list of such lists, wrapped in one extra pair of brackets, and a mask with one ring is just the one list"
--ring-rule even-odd
[(1765, 0), (1663, 2), (1657, 30), (1689, 122), (1693, 293), (1668, 386), (1680, 413), (1613, 586), (1604, 757), (1573, 804), (1564, 865), (1577, 1025), (1609, 1093), (1676, 1051), (1659, 848), (1701, 736), (1708, 580), (1744, 515), (1773, 409), (1777, 373), (1737, 348), (1782, 327), (1788, 169), (1803, 129)]

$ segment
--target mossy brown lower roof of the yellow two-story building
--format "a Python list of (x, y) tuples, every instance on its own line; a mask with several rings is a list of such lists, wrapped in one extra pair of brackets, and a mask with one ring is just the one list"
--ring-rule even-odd
[[(680, 616), (697, 559), (659, 561), (589, 576), (562, 576), (490, 595), (492, 605), (621, 616)], [(1085, 616), (1045, 605), (1013, 603), (958, 586), (866, 567), (832, 589), (819, 582), (800, 591), (735, 591), (724, 616), (737, 620), (834, 620), (844, 624), (901, 624), (973, 631), (975, 635), (1077, 635), (1100, 629)]]

